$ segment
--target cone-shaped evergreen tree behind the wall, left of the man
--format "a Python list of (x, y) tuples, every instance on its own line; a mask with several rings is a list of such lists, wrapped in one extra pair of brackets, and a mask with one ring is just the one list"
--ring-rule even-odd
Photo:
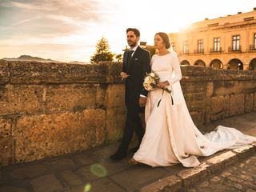
[(110, 51), (109, 43), (106, 38), (102, 37), (96, 46), (96, 51), (93, 56), (90, 57), (90, 62), (106, 62), (113, 61), (114, 54)]

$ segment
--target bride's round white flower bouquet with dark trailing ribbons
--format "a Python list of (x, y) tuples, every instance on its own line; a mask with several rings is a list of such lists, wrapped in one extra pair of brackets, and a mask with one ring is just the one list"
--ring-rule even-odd
[[(157, 87), (158, 82), (160, 82), (160, 78), (159, 78), (158, 74), (156, 74), (154, 72), (146, 73), (146, 77), (144, 78), (143, 86), (144, 86), (145, 90), (148, 90), (148, 91), (154, 90), (154, 88)], [(171, 90), (169, 90), (166, 86), (162, 88), (162, 95), (163, 95), (164, 91), (168, 92), (169, 94), (171, 93)], [(171, 98), (172, 105), (174, 105), (174, 100), (171, 95), (170, 95), (170, 98)], [(159, 106), (161, 100), (162, 100), (162, 98), (159, 100), (158, 106)]]

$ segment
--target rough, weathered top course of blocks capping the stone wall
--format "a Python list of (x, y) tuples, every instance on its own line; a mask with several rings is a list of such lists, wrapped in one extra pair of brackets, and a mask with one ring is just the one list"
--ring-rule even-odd
[[(255, 81), (254, 70), (214, 70), (182, 66), (182, 82)], [(123, 83), (121, 62), (70, 64), (65, 62), (21, 62), (0, 59), (0, 84)]]

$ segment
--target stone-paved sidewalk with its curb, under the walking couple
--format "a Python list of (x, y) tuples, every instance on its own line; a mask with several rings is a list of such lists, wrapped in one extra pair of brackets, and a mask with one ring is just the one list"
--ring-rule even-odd
[[(256, 136), (256, 113), (226, 118), (207, 126), (231, 124), (245, 134)], [(199, 157), (201, 164), (194, 168), (181, 164), (152, 168), (129, 165), (132, 154), (120, 162), (110, 161), (109, 156), (117, 147), (118, 143), (114, 143), (76, 154), (0, 167), (0, 192), (179, 191), (202, 178), (218, 175), (220, 170), (232, 163), (256, 154), (254, 143), (236, 150), (222, 150), (210, 157)], [(242, 178), (234, 179), (240, 181)], [(247, 185), (250, 183), (248, 181)]]

